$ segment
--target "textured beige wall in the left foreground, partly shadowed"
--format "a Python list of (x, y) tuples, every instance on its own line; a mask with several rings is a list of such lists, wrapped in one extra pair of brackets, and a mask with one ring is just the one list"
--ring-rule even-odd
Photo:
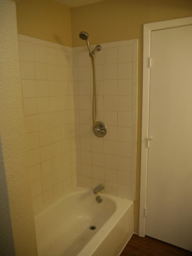
[[(35, 224), (27, 176), (16, 8), (13, 0), (0, 0), (0, 35), (0, 175), (1, 203), (3, 203), (0, 209), (0, 230), (1, 234), (6, 231), (3, 237), (0, 236), (1, 241), (3, 239), (0, 254), (36, 256)], [(9, 211), (10, 218), (6, 216), (6, 212), (9, 214)], [(8, 229), (10, 221), (12, 232), (10, 228)], [(15, 249), (11, 243), (12, 237)]]

